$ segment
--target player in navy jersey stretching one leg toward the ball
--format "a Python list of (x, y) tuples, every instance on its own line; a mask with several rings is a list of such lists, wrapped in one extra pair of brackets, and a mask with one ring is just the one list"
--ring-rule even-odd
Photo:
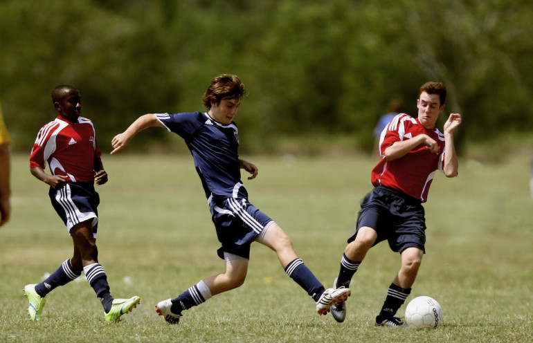
[(244, 84), (236, 75), (219, 75), (213, 78), (204, 94), (207, 113), (145, 114), (111, 141), (114, 147), (111, 154), (115, 154), (148, 127), (162, 127), (177, 133), (190, 149), (208, 198), (217, 237), (222, 243), (217, 253), (226, 261), (226, 270), (199, 281), (175, 299), (159, 302), (156, 312), (171, 324), (179, 322), (183, 310), (244, 283), (253, 241), (275, 251), (287, 275), (313, 297), (320, 315), (327, 314), (332, 305), (350, 296), (348, 288), (325, 290), (298, 258), (291, 239), (282, 228), (249, 203), (240, 169), (249, 172), (251, 180), (258, 175), (258, 167), (239, 157), (238, 131), (233, 122), (245, 92)]

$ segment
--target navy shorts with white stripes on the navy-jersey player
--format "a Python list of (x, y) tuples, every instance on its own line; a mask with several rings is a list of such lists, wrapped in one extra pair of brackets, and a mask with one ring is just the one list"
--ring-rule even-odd
[(224, 259), (224, 252), (249, 259), (251, 243), (273, 223), (269, 216), (245, 198), (226, 198), (218, 202), (212, 200), (209, 209), (218, 240), (222, 243), (222, 248), (217, 250), (221, 259)]

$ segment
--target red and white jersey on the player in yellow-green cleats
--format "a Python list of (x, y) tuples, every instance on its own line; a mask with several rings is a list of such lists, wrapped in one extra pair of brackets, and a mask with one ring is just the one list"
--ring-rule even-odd
[(52, 175), (68, 176), (72, 182), (93, 182), (94, 159), (101, 155), (91, 120), (79, 117), (73, 123), (58, 116), (39, 130), (30, 168), (44, 169), (48, 162)]

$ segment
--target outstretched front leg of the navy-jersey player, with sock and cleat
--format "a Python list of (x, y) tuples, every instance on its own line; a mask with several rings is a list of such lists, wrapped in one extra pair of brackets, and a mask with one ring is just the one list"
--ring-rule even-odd
[(311, 270), (305, 266), (302, 259), (298, 258), (291, 239), (278, 224), (272, 222), (256, 241), (266, 245), (276, 253), (287, 275), (314, 299), (316, 310), (320, 315), (325, 315), (332, 305), (343, 302), (350, 296), (350, 290), (347, 288), (343, 290), (329, 288), (326, 290)]

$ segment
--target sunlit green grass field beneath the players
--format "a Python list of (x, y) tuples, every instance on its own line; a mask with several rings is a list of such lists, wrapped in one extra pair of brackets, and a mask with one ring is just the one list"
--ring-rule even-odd
[[(369, 157), (243, 156), (260, 175), (246, 180), (250, 201), (277, 221), (326, 287), (338, 272), (359, 201), (370, 190)], [(72, 243), (46, 185), (12, 162), (12, 220), (0, 229), (0, 342), (533, 342), (533, 201), (529, 156), (499, 165), (461, 161), (460, 176), (437, 175), (426, 203), (427, 254), (408, 301), (440, 302), (436, 330), (376, 328), (399, 256), (370, 250), (352, 281), (348, 315), (337, 324), (287, 275), (275, 254), (253, 245), (244, 286), (217, 295), (166, 324), (154, 305), (224, 263), (190, 156), (105, 156), (98, 247), (114, 297), (141, 305), (105, 324), (87, 281), (57, 288), (40, 322), (27, 319), (25, 284), (71, 256)], [(405, 306), (399, 310), (403, 316)]]

